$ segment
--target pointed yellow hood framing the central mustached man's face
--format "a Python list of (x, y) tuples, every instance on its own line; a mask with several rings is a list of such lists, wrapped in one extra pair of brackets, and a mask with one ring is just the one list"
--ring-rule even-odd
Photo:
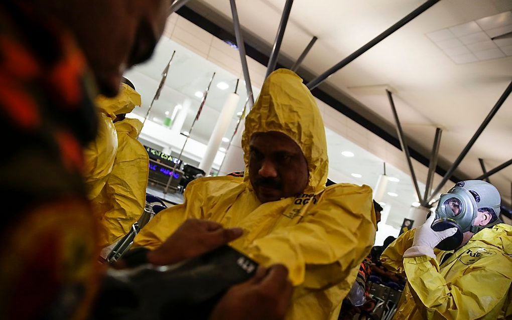
[(246, 181), (250, 138), (255, 132), (268, 131), (284, 133), (301, 147), (309, 168), (309, 182), (304, 192), (324, 188), (328, 171), (324, 122), (313, 95), (293, 71), (272, 72), (245, 119), (242, 147)]

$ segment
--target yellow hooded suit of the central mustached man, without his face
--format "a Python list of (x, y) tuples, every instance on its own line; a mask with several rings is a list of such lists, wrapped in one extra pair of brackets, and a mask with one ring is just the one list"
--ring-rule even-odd
[[(309, 168), (304, 194), (260, 203), (247, 169), (254, 132), (279, 131), (302, 148)], [(288, 267), (296, 286), (288, 319), (337, 319), (343, 298), (375, 238), (372, 190), (337, 184), (325, 188), (325, 129), (313, 96), (289, 70), (274, 71), (245, 121), (245, 177), (190, 182), (185, 202), (161, 211), (138, 234), (138, 246), (155, 248), (187, 218), (242, 227), (231, 246), (263, 265)]]

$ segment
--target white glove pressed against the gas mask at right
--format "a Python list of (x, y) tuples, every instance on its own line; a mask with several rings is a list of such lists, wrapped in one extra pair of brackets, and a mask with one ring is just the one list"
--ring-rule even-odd
[(444, 239), (453, 236), (457, 232), (457, 228), (434, 231), (431, 226), (435, 219), (436, 215), (431, 214), (429, 219), (426, 219), (425, 223), (416, 229), (413, 245), (403, 253), (403, 258), (429, 255), (436, 259), (434, 248)]

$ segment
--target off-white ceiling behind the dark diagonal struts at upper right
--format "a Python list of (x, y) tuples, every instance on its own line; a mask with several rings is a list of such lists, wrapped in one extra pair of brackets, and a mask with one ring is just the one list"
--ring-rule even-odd
[[(293, 63), (316, 36), (299, 73), (317, 76), (423, 2), (295, 0), (279, 63)], [(237, 1), (246, 42), (260, 44), (259, 50), (267, 56), (284, 4), (285, 0)], [(229, 1), (193, 0), (187, 7), (232, 30)], [(441, 0), (319, 88), (396, 136), (385, 92), (390, 89), (415, 150), (429, 158), (435, 129), (443, 130), (439, 165), (447, 169), (512, 80), (512, 38), (491, 39), (512, 31), (510, 10), (509, 0)], [(479, 158), (487, 170), (511, 159), (511, 137), (512, 97), (508, 97), (455, 174), (464, 179), (480, 176)], [(510, 204), (512, 166), (490, 181)]]

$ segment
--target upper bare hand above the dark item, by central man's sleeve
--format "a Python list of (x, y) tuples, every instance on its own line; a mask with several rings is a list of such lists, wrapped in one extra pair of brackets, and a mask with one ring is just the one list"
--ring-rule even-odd
[(186, 220), (158, 248), (147, 253), (154, 265), (169, 265), (197, 257), (242, 236), (241, 228), (225, 229), (208, 220)]

